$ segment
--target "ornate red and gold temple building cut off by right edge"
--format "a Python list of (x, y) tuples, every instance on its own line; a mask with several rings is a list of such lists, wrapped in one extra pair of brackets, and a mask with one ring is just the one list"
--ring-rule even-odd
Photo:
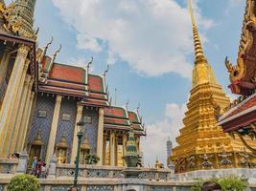
[(229, 88), (240, 97), (219, 118), (219, 125), (232, 137), (241, 138), (244, 146), (255, 155), (255, 144), (251, 144), (246, 138), (254, 141), (256, 138), (256, 2), (246, 0), (245, 3), (237, 65), (233, 66), (225, 60), (230, 74)]

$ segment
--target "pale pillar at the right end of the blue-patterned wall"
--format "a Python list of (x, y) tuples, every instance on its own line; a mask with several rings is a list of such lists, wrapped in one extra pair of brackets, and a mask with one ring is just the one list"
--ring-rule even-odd
[(97, 156), (100, 158), (98, 165), (103, 165), (104, 161), (104, 108), (99, 109), (98, 138), (97, 138)]

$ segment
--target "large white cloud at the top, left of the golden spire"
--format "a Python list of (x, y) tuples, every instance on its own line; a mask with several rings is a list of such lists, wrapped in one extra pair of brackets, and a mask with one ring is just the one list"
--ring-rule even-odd
[[(127, 61), (138, 74), (191, 76), (190, 18), (174, 0), (52, 1), (76, 29), (79, 49), (98, 53), (106, 47), (108, 60)], [(197, 17), (204, 29), (213, 25), (199, 11)]]

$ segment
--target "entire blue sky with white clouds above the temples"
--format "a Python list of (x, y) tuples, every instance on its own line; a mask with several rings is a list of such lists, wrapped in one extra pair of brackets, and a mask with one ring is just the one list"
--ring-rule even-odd
[[(197, 0), (196, 18), (204, 53), (227, 95), (224, 58), (235, 62), (244, 16), (243, 0)], [(175, 142), (191, 89), (194, 62), (186, 0), (38, 0), (35, 27), (39, 46), (54, 36), (49, 53), (62, 45), (58, 62), (85, 66), (92, 73), (110, 65), (107, 84), (117, 102), (129, 109), (140, 103), (148, 138), (146, 165), (166, 159), (168, 136)]]

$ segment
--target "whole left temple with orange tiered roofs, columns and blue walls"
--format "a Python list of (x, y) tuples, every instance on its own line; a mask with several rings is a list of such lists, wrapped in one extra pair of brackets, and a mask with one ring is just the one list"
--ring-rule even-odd
[[(77, 123), (85, 122), (81, 163), (89, 153), (99, 165), (125, 166), (128, 131), (137, 150), (146, 136), (138, 111), (112, 106), (105, 74), (58, 63), (61, 46), (53, 54), (37, 47), (33, 29), (35, 0), (0, 1), (0, 158), (26, 151), (49, 164), (74, 163)], [(30, 166), (30, 165), (29, 165)]]

